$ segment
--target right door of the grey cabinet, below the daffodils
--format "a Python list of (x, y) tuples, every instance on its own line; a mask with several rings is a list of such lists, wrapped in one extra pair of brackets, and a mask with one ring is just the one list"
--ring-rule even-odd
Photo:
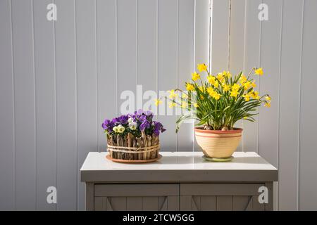
[(180, 184), (180, 210), (265, 210), (259, 203), (264, 184)]

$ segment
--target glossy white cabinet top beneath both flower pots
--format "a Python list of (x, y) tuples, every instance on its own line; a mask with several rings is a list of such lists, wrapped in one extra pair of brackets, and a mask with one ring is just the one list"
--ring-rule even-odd
[(254, 152), (236, 152), (231, 162), (209, 162), (201, 152), (160, 152), (163, 158), (146, 164), (126, 164), (92, 152), (80, 169), (82, 181), (276, 181), (278, 169)]

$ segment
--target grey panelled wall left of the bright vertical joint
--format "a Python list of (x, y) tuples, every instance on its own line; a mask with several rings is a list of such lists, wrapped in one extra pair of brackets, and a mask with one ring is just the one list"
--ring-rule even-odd
[[(50, 3), (56, 22), (46, 20)], [(208, 6), (0, 0), (0, 210), (84, 210), (79, 169), (89, 151), (106, 150), (102, 121), (120, 113), (122, 91), (182, 86), (207, 62)], [(175, 135), (175, 118), (159, 116), (162, 150), (194, 150), (193, 124)], [(49, 186), (56, 205), (46, 203)]]

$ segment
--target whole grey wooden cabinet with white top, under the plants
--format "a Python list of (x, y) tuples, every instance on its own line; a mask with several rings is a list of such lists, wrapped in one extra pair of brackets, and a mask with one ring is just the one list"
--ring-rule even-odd
[[(161, 153), (159, 162), (120, 164), (89, 153), (82, 165), (87, 210), (273, 210), (278, 169), (256, 153), (206, 162), (201, 153)], [(259, 203), (259, 188), (268, 203)]]

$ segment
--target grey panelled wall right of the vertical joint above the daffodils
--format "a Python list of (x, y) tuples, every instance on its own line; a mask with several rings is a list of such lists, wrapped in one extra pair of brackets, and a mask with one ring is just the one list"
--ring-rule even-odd
[[(262, 3), (268, 5), (268, 21), (258, 19)], [(223, 20), (222, 25), (230, 25), (230, 41), (221, 48), (213, 46), (228, 32), (221, 25), (215, 29), (222, 32), (213, 30), (213, 63), (222, 68), (228, 63), (232, 72), (247, 73), (254, 66), (265, 71), (256, 82), (261, 93), (271, 94), (272, 106), (260, 108), (255, 123), (239, 125), (244, 129), (242, 150), (258, 152), (279, 169), (279, 210), (317, 209), (316, 9), (313, 0), (213, 0), (213, 25), (216, 15), (229, 15), (229, 23)], [(218, 72), (218, 65), (212, 68)]]

